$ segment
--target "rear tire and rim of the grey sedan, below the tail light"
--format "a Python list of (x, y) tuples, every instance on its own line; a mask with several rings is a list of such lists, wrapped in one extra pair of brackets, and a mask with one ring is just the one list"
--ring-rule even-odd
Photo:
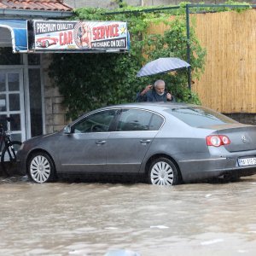
[(165, 157), (153, 160), (148, 169), (148, 182), (153, 185), (177, 185), (180, 183), (177, 167)]

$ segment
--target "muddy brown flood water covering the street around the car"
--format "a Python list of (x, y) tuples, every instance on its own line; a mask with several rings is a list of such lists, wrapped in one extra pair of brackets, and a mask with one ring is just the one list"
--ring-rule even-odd
[(36, 184), (0, 177), (0, 255), (256, 255), (256, 176)]

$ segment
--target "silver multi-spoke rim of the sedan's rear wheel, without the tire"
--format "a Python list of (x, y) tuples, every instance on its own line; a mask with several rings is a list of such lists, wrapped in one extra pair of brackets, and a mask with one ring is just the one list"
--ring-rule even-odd
[(154, 164), (151, 169), (151, 183), (154, 185), (170, 186), (173, 183), (173, 170), (165, 161)]

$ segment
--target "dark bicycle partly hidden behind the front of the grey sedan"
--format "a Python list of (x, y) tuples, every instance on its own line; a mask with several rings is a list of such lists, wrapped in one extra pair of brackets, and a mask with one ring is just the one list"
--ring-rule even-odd
[[(6, 118), (6, 121), (10, 122), (11, 118)], [(21, 143), (19, 141), (12, 141), (10, 131), (6, 130), (3, 124), (0, 124), (1, 166), (3, 173), (10, 176), (10, 173), (14, 174), (16, 171), (16, 152), (20, 148)]]

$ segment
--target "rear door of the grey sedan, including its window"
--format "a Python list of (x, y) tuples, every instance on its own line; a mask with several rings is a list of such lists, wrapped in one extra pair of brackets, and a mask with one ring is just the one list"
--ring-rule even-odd
[(163, 122), (163, 117), (147, 110), (123, 109), (119, 113), (116, 131), (108, 137), (107, 172), (139, 172)]

